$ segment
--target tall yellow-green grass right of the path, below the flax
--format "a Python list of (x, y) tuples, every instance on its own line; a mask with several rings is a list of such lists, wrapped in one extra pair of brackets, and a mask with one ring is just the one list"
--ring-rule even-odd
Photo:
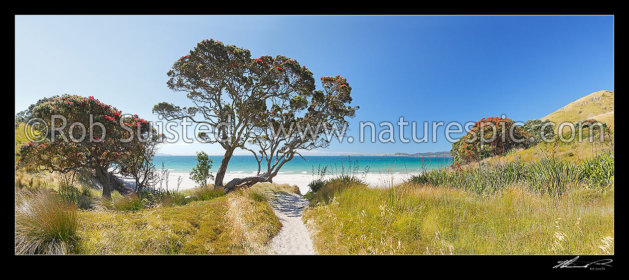
[(613, 187), (553, 197), (354, 184), (313, 199), (304, 221), (320, 254), (613, 254)]

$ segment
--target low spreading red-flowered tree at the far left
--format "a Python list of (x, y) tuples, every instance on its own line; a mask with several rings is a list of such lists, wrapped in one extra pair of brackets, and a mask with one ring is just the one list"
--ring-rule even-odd
[[(136, 151), (130, 142), (121, 139), (132, 140), (132, 137), (142, 137), (140, 135), (151, 131), (148, 121), (137, 115), (123, 116), (121, 111), (93, 97), (68, 94), (36, 105), (30, 110), (29, 118), (41, 119), (33, 129), (44, 138), (19, 147), (18, 166), (35, 165), (62, 173), (79, 168), (92, 169), (103, 184), (106, 198), (111, 196), (112, 190), (109, 167)], [(53, 127), (58, 131), (52, 133)], [(47, 130), (50, 131), (46, 133)]]

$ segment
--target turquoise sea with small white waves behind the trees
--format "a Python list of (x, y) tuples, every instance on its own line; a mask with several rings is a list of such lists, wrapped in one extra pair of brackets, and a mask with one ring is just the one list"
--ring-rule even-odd
[[(216, 172), (218, 166), (223, 159), (221, 155), (211, 155), (213, 160), (212, 172)], [(347, 171), (350, 161), (355, 166), (356, 162), (359, 166), (359, 170), (362, 171), (365, 167), (369, 167), (369, 173), (373, 174), (414, 174), (419, 173), (422, 170), (438, 169), (447, 167), (451, 164), (452, 158), (438, 158), (438, 157), (426, 157), (422, 162), (421, 157), (394, 157), (394, 156), (351, 156), (338, 155), (338, 156), (304, 156), (295, 157), (290, 162), (284, 164), (279, 174), (312, 174), (318, 171), (319, 166), (328, 166), (328, 170), (336, 173), (340, 173), (343, 167)], [(153, 158), (157, 169), (162, 168), (162, 162), (164, 168), (169, 169), (171, 172), (190, 172), (192, 167), (196, 165), (195, 155), (156, 155)], [(263, 169), (264, 169), (263, 162)], [(228, 173), (245, 173), (251, 174), (257, 172), (258, 165), (255, 162), (255, 158), (252, 155), (234, 155), (231, 157), (230, 164), (227, 167)]]

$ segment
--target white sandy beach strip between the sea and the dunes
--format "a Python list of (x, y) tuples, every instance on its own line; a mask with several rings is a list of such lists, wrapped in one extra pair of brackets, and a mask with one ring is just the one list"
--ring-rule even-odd
[[(225, 174), (224, 182), (229, 182), (231, 179), (245, 176), (250, 176), (250, 174), (227, 173)], [(190, 179), (190, 174), (171, 172), (169, 174), (168, 186), (166, 186), (166, 182), (164, 182), (162, 183), (161, 188), (177, 189), (177, 180), (179, 177), (181, 177), (179, 191), (191, 189), (196, 186), (196, 183)], [(369, 186), (382, 188), (399, 184), (410, 177), (412, 177), (411, 174), (365, 174), (364, 179)], [(135, 188), (135, 182), (133, 179), (128, 177), (121, 177), (121, 179), (125, 182), (125, 185), (128, 186), (128, 188)], [(306, 194), (309, 191), (308, 183), (313, 181), (313, 179), (315, 178), (311, 174), (277, 174), (277, 176), (273, 178), (273, 182), (278, 184), (297, 185), (299, 187), (299, 191), (302, 194)]]

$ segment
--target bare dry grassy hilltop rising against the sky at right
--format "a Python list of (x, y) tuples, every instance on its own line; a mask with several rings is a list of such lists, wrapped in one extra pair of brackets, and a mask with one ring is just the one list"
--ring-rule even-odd
[(559, 125), (564, 121), (572, 123), (589, 118), (605, 121), (613, 130), (614, 122), (614, 92), (597, 91), (587, 94), (553, 113), (540, 118), (540, 120), (554, 121)]

